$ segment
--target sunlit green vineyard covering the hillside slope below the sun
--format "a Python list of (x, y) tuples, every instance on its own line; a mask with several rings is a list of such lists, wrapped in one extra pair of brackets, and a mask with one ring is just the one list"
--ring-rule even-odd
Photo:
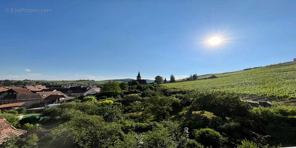
[(163, 85), (190, 91), (225, 90), (242, 96), (296, 99), (296, 64), (294, 63), (219, 74), (217, 77)]

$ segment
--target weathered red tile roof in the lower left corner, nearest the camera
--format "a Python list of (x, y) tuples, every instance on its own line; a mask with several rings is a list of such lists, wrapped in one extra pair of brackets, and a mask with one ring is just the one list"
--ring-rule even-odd
[(0, 144), (6, 141), (8, 138), (21, 135), (25, 133), (25, 130), (20, 130), (13, 127), (6, 121), (5, 117), (0, 116)]

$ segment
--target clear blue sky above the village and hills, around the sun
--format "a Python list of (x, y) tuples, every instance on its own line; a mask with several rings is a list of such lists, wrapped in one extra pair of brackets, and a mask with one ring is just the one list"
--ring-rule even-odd
[[(292, 0), (1, 1), (0, 80), (136, 78), (139, 69), (144, 79), (184, 78), (292, 61), (295, 5)], [(51, 12), (15, 12), (22, 8)], [(215, 36), (222, 42), (210, 46), (207, 41)]]

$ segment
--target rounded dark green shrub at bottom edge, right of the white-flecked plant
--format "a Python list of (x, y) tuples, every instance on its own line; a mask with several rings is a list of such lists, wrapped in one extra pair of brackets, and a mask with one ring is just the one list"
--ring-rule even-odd
[(200, 142), (205, 147), (222, 147), (223, 136), (211, 129), (211, 128), (202, 128), (200, 130), (194, 130), (195, 140)]

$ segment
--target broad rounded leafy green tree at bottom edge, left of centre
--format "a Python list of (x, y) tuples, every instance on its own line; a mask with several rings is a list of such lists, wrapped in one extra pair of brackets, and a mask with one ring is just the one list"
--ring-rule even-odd
[(100, 116), (73, 118), (51, 131), (52, 140), (47, 147), (111, 147), (123, 139), (120, 127), (117, 123), (104, 122)]

